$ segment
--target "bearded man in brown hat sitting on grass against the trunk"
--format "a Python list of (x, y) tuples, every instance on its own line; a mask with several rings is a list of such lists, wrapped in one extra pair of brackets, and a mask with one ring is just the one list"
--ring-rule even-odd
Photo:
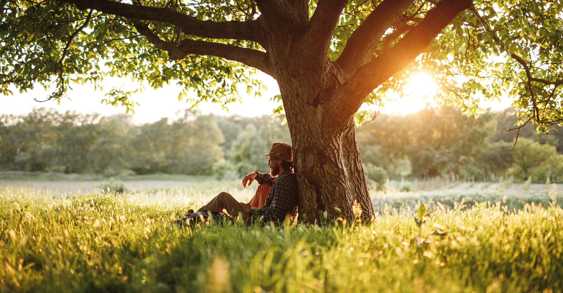
[(250, 186), (254, 179), (259, 184), (270, 184), (270, 193), (261, 209), (252, 207), (250, 202), (239, 202), (227, 192), (221, 192), (198, 211), (220, 213), (225, 209), (233, 217), (249, 221), (262, 218), (266, 222), (283, 222), (286, 215), (291, 216), (298, 202), (292, 148), (276, 142), (270, 152), (263, 156), (269, 156), (270, 173), (253, 172), (243, 178), (243, 187), (247, 183)]

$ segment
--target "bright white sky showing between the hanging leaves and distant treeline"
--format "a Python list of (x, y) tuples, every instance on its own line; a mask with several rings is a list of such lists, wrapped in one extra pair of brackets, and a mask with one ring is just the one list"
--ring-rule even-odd
[[(271, 115), (272, 109), (280, 105), (280, 103), (270, 101), (271, 97), (279, 94), (276, 81), (269, 75), (263, 73), (260, 73), (257, 78), (262, 80), (269, 91), (262, 91), (262, 97), (241, 95), (243, 103), (233, 103), (229, 105), (228, 114), (239, 114), (241, 116)], [(117, 80), (117, 82), (127, 83), (127, 80)], [(436, 84), (430, 76), (419, 74), (411, 80), (407, 87), (406, 91), (410, 91), (411, 94), (403, 99), (388, 103), (385, 109), (382, 109), (382, 112), (387, 114), (408, 114), (420, 111), (426, 106), (426, 103), (434, 104), (431, 93), (436, 91)], [(30, 112), (33, 107), (52, 107), (60, 112), (66, 110), (76, 110), (81, 113), (98, 112), (102, 115), (125, 112), (124, 107), (101, 104), (101, 100), (105, 98), (104, 94), (106, 92), (100, 92), (100, 90), (93, 91), (93, 88), (88, 86), (80, 87), (74, 85), (73, 88), (74, 90), (68, 93), (72, 101), (61, 100), (60, 105), (57, 105), (55, 101), (42, 103), (34, 101), (34, 97), (37, 98), (37, 100), (42, 100), (42, 98), (50, 94), (50, 92), (43, 91), (42, 88), (38, 87), (38, 89), (34, 89), (34, 91), (21, 94), (16, 91), (15, 88), (11, 88), (11, 90), (14, 91), (14, 96), (0, 96), (0, 113), (16, 115), (26, 114)], [(142, 124), (159, 120), (162, 117), (175, 117), (177, 111), (189, 108), (191, 106), (190, 103), (186, 103), (185, 100), (178, 101), (177, 96), (180, 91), (181, 89), (179, 87), (165, 85), (164, 88), (158, 90), (148, 88), (143, 93), (133, 94), (132, 100), (141, 104), (141, 106), (135, 106), (133, 122)], [(512, 101), (505, 99), (501, 103), (496, 101), (481, 103), (481, 106), (484, 108), (491, 107), (493, 110), (502, 110), (506, 107), (510, 107), (511, 102)], [(203, 114), (215, 113), (217, 115), (227, 115), (227, 112), (221, 110), (221, 106), (218, 104), (203, 102), (199, 104), (198, 109), (201, 110)], [(367, 106), (365, 109), (370, 109), (370, 107)]]

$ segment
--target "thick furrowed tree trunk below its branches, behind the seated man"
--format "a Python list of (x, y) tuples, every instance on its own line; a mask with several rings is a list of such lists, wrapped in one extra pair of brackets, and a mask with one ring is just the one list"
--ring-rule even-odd
[(362, 217), (370, 219), (373, 204), (361, 165), (354, 119), (349, 117), (343, 126), (331, 123), (326, 113), (334, 110), (328, 102), (333, 99), (319, 99), (325, 87), (319, 86), (319, 79), (312, 78), (319, 75), (309, 71), (299, 78), (279, 80), (300, 189), (299, 219), (307, 223), (323, 222), (325, 216), (353, 219), (354, 201), (360, 203)]

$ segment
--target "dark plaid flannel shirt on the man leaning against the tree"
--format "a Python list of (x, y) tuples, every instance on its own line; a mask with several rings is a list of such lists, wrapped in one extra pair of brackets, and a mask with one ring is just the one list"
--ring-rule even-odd
[(260, 184), (267, 183), (272, 186), (270, 194), (262, 209), (252, 208), (249, 217), (258, 219), (263, 217), (265, 221), (283, 221), (285, 214), (291, 214), (297, 205), (297, 181), (295, 174), (284, 171), (274, 178), (270, 173), (260, 173), (256, 181)]

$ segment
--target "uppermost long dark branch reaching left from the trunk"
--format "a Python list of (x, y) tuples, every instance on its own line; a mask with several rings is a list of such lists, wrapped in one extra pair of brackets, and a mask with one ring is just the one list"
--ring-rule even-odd
[(78, 9), (95, 9), (100, 12), (129, 19), (166, 22), (177, 25), (182, 33), (202, 38), (252, 40), (260, 43), (258, 20), (202, 21), (171, 8), (131, 5), (111, 0), (68, 0)]

